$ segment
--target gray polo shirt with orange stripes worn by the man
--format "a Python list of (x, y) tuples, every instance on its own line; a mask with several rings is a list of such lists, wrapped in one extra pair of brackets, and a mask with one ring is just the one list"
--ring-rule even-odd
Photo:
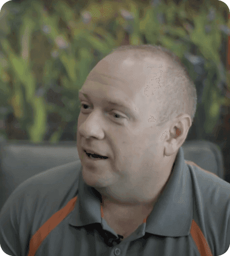
[(0, 244), (14, 256), (206, 256), (230, 244), (230, 184), (184, 159), (180, 147), (166, 188), (126, 239), (103, 219), (101, 196), (80, 161), (21, 183), (0, 213)]

